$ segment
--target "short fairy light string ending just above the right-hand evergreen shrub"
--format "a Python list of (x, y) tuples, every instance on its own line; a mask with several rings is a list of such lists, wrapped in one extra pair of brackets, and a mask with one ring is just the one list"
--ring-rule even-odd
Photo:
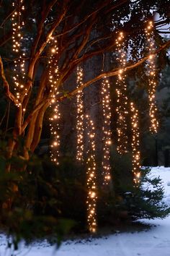
[(135, 184), (140, 182), (140, 150), (139, 150), (139, 124), (138, 109), (134, 103), (130, 103), (131, 123), (132, 123), (132, 150), (133, 150), (133, 181)]

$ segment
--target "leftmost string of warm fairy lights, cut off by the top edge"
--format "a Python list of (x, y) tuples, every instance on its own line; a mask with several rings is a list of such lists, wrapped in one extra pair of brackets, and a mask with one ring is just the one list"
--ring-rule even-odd
[(27, 88), (24, 88), (25, 61), (24, 51), (21, 51), (22, 42), (22, 12), (24, 11), (23, 0), (13, 1), (14, 13), (12, 14), (12, 50), (17, 59), (14, 60), (14, 90), (17, 96), (17, 106), (21, 106), (21, 95), (27, 95)]

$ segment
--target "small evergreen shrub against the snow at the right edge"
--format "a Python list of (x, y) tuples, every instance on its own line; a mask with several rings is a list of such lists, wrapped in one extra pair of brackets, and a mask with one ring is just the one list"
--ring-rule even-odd
[[(121, 188), (121, 200), (117, 208), (125, 208), (133, 219), (138, 218), (165, 218), (170, 213), (170, 208), (161, 202), (164, 189), (161, 179), (149, 178), (151, 169), (141, 170), (141, 183), (137, 187), (128, 186)], [(147, 187), (146, 187), (147, 186)]]

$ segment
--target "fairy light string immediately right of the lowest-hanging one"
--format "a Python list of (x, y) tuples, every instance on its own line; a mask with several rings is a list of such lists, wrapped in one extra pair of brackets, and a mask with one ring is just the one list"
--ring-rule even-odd
[(102, 174), (104, 176), (104, 184), (109, 184), (110, 181), (110, 145), (112, 144), (111, 140), (111, 131), (110, 131), (110, 95), (109, 95), (109, 80), (107, 77), (104, 77), (102, 80), (102, 111), (103, 111), (103, 160), (102, 160)]

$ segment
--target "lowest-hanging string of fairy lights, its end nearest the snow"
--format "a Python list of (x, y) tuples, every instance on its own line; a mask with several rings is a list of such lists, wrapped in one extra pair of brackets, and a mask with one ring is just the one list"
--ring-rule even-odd
[(87, 151), (86, 160), (86, 184), (87, 184), (87, 223), (90, 232), (95, 232), (97, 230), (97, 177), (96, 177), (96, 149), (95, 149), (95, 127), (93, 121), (90, 119), (89, 115), (86, 115), (86, 129), (88, 130), (88, 145), (89, 150)]

